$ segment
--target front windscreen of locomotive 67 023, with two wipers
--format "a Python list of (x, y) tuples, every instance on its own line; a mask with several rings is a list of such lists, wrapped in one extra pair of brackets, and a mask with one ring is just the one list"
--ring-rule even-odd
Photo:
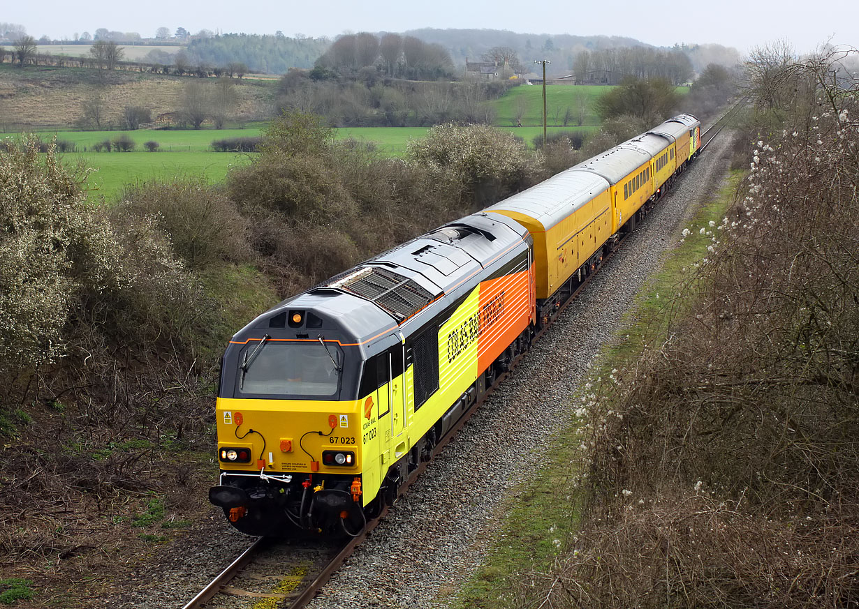
[[(337, 395), (343, 352), (336, 343), (265, 341), (250, 344), (239, 360), (239, 393), (291, 397)], [(336, 362), (336, 364), (335, 364)], [(339, 370), (338, 370), (339, 369)]]

